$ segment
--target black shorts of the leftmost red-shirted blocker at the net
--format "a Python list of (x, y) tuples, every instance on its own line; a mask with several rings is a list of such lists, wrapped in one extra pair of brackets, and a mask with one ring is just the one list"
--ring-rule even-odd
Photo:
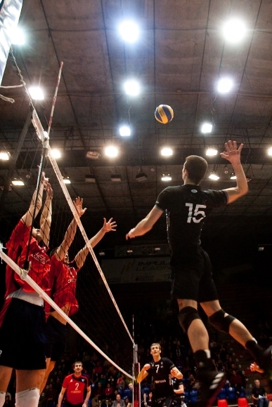
[(18, 370), (46, 368), (44, 307), (11, 298), (0, 327), (0, 365)]

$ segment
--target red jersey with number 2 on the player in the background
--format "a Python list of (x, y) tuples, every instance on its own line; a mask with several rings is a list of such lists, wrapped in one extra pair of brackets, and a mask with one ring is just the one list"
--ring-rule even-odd
[(86, 376), (75, 374), (68, 375), (63, 380), (63, 387), (66, 389), (65, 399), (71, 404), (84, 403), (84, 397), (87, 387), (89, 387), (89, 380)]

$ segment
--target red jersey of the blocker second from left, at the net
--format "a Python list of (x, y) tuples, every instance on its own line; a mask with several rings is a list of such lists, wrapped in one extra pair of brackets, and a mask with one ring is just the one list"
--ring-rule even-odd
[(62, 261), (58, 261), (56, 255), (51, 257), (51, 272), (54, 279), (56, 279), (54, 283), (53, 300), (60, 308), (69, 303), (71, 306), (69, 316), (75, 314), (79, 309), (75, 296), (78, 271), (79, 269), (75, 269), (75, 267), (71, 267), (71, 265), (65, 265)]

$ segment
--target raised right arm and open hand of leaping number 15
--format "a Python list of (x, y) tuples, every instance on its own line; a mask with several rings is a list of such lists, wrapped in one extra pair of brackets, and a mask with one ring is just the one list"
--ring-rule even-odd
[(230, 161), (236, 175), (236, 187), (224, 189), (226, 194), (228, 194), (228, 204), (231, 204), (248, 192), (247, 178), (245, 177), (245, 172), (240, 161), (243, 146), (241, 143), (239, 148), (237, 148), (237, 142), (229, 140), (225, 142), (226, 151), (220, 154), (222, 158)]

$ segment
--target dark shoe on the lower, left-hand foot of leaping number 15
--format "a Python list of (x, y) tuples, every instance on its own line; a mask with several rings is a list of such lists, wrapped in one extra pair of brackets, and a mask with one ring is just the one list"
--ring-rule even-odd
[(197, 375), (197, 407), (212, 407), (226, 382), (223, 372), (202, 371)]

